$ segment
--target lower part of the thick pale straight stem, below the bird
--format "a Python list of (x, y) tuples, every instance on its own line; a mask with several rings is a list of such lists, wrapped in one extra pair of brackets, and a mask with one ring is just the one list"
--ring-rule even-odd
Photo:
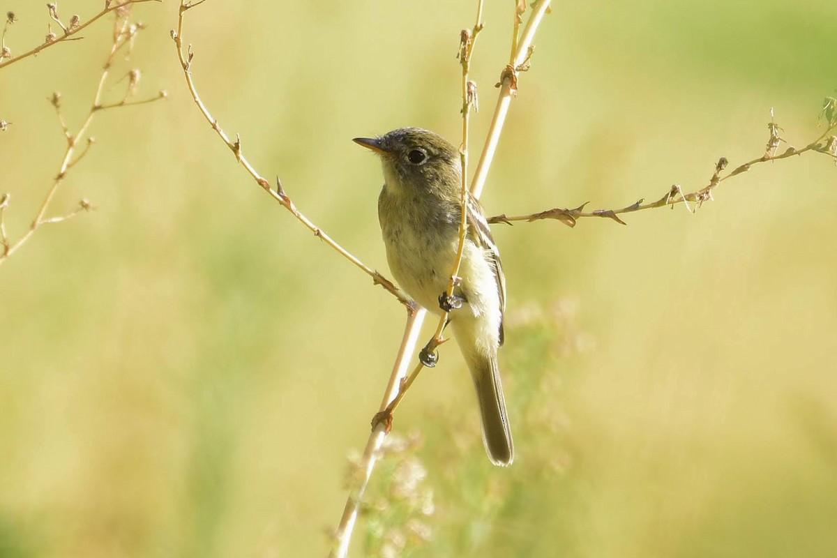
[[(408, 362), (413, 360), (413, 351), (415, 351), (416, 342), (419, 340), (419, 331), (426, 314), (427, 310), (418, 308), (410, 312), (407, 317), (407, 325), (404, 328), (401, 346), (398, 347), (398, 356), (395, 358), (393, 373), (389, 378), (387, 389), (381, 401), (380, 410), (382, 412), (388, 407), (396, 392), (399, 391), (403, 377), (406, 376)], [(357, 484), (349, 494), (346, 507), (343, 509), (343, 515), (340, 518), (340, 525), (337, 525), (336, 544), (331, 549), (330, 558), (344, 558), (348, 553), (349, 542), (352, 540), (352, 530), (354, 530), (357, 522), (357, 512), (363, 501), (363, 495), (366, 494), (369, 479), (372, 478), (372, 470), (375, 468), (383, 440), (386, 437), (387, 428), (385, 423), (377, 422), (375, 427), (372, 428), (372, 433), (369, 434), (363, 456), (358, 463), (359, 477)]]

